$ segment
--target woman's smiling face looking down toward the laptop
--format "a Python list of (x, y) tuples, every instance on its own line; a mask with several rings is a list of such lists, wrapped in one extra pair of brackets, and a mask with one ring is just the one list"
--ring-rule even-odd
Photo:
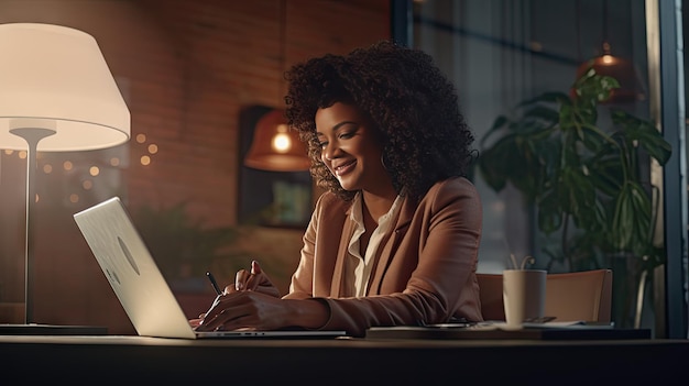
[(390, 175), (372, 122), (351, 104), (337, 102), (316, 112), (320, 159), (346, 190), (389, 191)]

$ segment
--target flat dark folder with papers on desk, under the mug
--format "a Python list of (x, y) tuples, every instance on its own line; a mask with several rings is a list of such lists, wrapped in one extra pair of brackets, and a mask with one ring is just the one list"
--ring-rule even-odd
[[(546, 326), (548, 324), (548, 326)], [(373, 327), (367, 330), (367, 339), (457, 339), (457, 340), (608, 340), (650, 339), (649, 329), (616, 329), (612, 324), (587, 324), (582, 322), (524, 323), (520, 328), (504, 322), (473, 324), (431, 324)]]

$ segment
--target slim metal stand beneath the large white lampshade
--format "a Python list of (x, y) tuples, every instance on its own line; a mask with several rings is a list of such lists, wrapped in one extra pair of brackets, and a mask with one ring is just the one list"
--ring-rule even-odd
[(26, 229), (24, 238), (24, 323), (33, 322), (33, 283), (34, 283), (34, 211), (36, 201), (35, 173), (39, 166), (37, 152), (39, 142), (46, 136), (55, 134), (51, 129), (12, 129), (10, 133), (21, 136), (26, 141)]

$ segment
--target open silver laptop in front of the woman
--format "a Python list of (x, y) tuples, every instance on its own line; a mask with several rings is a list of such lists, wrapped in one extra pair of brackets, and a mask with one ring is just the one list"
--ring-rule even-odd
[[(136, 333), (158, 338), (337, 338), (344, 331), (195, 331), (119, 197), (74, 219)], [(209, 305), (210, 306), (210, 305)]]

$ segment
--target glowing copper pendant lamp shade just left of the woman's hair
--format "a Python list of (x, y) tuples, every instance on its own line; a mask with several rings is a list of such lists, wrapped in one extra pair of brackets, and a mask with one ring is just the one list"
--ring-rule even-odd
[(306, 146), (287, 126), (283, 111), (271, 110), (259, 120), (244, 165), (270, 172), (308, 170)]

